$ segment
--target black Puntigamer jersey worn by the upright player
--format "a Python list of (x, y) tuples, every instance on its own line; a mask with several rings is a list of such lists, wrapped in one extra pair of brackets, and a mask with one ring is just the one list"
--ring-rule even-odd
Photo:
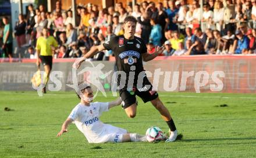
[[(147, 53), (147, 46), (143, 39), (134, 37), (134, 39), (126, 39), (123, 35), (115, 36), (110, 41), (103, 44), (105, 49), (112, 50), (116, 58), (116, 66), (118, 71), (126, 73), (126, 86), (130, 71), (135, 72), (134, 85), (136, 86), (138, 74), (144, 71), (142, 54)], [(120, 84), (121, 78), (118, 78)]]

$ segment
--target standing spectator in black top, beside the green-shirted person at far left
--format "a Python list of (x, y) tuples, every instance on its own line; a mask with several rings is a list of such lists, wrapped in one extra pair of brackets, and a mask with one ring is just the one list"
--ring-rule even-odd
[(26, 44), (26, 22), (22, 14), (19, 15), (19, 21), (16, 23), (14, 29), (17, 45), (20, 48), (22, 45)]

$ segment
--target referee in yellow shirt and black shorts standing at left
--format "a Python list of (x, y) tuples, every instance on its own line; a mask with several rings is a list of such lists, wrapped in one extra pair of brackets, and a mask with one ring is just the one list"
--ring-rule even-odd
[[(40, 60), (42, 65), (44, 65), (44, 77), (43, 83), (44, 88), (42, 89), (43, 93), (46, 93), (46, 85), (49, 80), (49, 74), (52, 70), (52, 52), (55, 48), (58, 47), (58, 42), (54, 37), (49, 36), (49, 31), (47, 28), (42, 30), (42, 36), (37, 39), (37, 66), (40, 66)], [(39, 60), (40, 59), (40, 60)]]

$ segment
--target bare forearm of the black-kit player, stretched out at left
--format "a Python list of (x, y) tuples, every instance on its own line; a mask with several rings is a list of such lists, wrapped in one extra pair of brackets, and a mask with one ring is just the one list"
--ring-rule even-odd
[(84, 62), (84, 60), (93, 57), (94, 55), (96, 55), (98, 52), (102, 52), (104, 51), (106, 48), (103, 46), (103, 44), (101, 45), (97, 45), (97, 46), (92, 46), (90, 51), (88, 51), (86, 53), (86, 55), (84, 55), (81, 59), (77, 60), (74, 64), (73, 67), (75, 69), (79, 69), (81, 63)]

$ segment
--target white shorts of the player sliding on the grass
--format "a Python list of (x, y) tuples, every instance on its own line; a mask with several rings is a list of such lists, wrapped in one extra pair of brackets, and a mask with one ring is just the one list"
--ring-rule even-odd
[(127, 134), (127, 131), (123, 128), (115, 127), (110, 124), (105, 124), (105, 131), (102, 133), (102, 137), (97, 143), (105, 142), (122, 142), (123, 134)]

